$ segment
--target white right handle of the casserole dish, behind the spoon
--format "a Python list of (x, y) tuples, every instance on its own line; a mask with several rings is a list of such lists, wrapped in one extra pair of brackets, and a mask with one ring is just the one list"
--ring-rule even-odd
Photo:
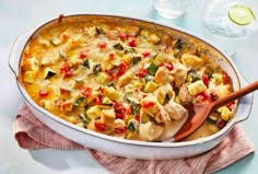
[[(241, 88), (244, 88), (249, 84), (246, 81), (246, 79), (242, 76), (239, 76), (239, 80), (241, 80), (241, 84), (242, 84)], [(236, 113), (237, 117), (234, 120), (234, 124), (244, 121), (247, 118), (249, 118), (251, 107), (253, 107), (253, 101), (254, 101), (254, 93), (249, 93), (248, 95), (245, 95), (241, 98), (239, 105), (238, 105), (238, 108), (241, 108), (241, 109), (238, 109)]]

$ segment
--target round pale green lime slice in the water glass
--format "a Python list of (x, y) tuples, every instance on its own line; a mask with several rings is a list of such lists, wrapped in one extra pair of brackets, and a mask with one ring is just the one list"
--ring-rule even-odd
[(243, 4), (235, 4), (231, 7), (228, 16), (232, 22), (238, 25), (248, 25), (256, 20), (255, 14), (250, 8)]

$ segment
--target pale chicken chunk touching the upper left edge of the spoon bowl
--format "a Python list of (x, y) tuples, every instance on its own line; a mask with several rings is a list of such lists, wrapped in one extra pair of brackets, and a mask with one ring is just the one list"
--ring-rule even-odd
[(164, 108), (169, 115), (169, 117), (176, 121), (180, 121), (188, 116), (187, 109), (181, 105), (175, 103), (173, 100), (165, 104)]

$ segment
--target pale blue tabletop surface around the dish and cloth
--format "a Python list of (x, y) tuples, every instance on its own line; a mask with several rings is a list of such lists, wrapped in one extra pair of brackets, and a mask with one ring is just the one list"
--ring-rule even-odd
[[(151, 0), (0, 0), (0, 174), (108, 173), (86, 151), (52, 149), (27, 151), (19, 148), (13, 138), (12, 124), (22, 100), (14, 76), (8, 67), (8, 56), (19, 34), (61, 13), (107, 13), (153, 19), (181, 26), (200, 35), (199, 1), (192, 0), (187, 14), (180, 20), (172, 21), (157, 16), (152, 9)], [(258, 32), (233, 57), (248, 81), (258, 79), (257, 45)], [(255, 93), (250, 117), (242, 124), (256, 149), (258, 148), (257, 100), (258, 93)], [(257, 164), (258, 155), (254, 153), (219, 173), (253, 174), (258, 171)]]

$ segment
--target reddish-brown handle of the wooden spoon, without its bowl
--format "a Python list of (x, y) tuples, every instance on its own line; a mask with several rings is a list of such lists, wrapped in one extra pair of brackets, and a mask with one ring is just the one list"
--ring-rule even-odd
[(232, 101), (235, 101), (248, 93), (251, 93), (253, 91), (256, 91), (258, 90), (258, 81), (236, 91), (236, 92), (233, 92), (228, 95), (226, 95), (225, 97), (222, 97), (222, 98), (219, 98), (216, 100), (215, 102), (212, 103), (212, 108), (219, 108), (223, 105), (226, 105), (227, 103), (232, 102)]

